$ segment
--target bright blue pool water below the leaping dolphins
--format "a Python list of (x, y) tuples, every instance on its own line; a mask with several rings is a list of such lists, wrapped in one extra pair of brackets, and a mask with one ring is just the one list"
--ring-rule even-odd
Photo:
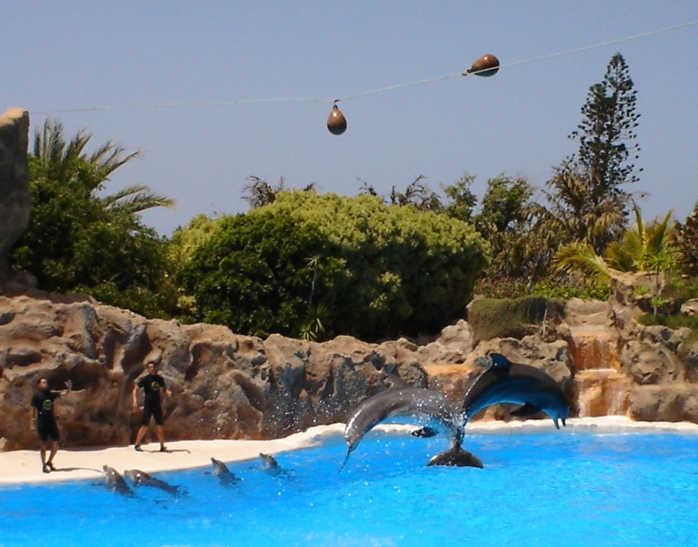
[(426, 467), (441, 438), (370, 433), (342, 472), (337, 438), (278, 454), (286, 474), (231, 463), (233, 486), (210, 469), (157, 473), (181, 496), (5, 486), (0, 546), (698, 544), (698, 435), (483, 434), (464, 446), (483, 470)]

